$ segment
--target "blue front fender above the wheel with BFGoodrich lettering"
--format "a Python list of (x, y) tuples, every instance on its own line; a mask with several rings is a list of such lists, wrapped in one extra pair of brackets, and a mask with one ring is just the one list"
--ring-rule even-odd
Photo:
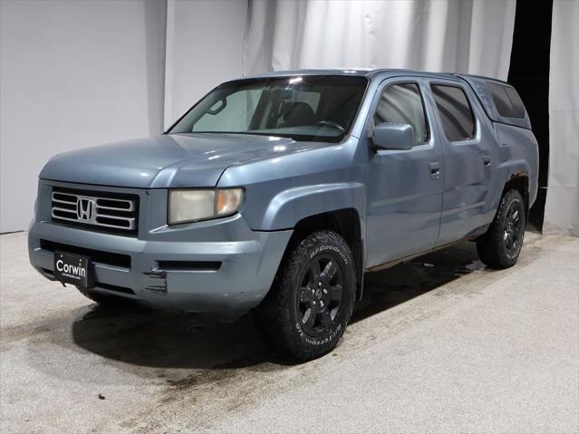
[(227, 168), (217, 187), (246, 189), (239, 212), (253, 230), (291, 229), (305, 217), (344, 208), (362, 217), (367, 161), (358, 145), (354, 137), (335, 144), (305, 142), (275, 158)]

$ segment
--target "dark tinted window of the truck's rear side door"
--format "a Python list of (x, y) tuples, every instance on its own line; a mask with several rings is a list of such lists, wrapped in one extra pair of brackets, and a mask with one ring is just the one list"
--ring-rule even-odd
[(444, 84), (432, 84), (430, 88), (447, 139), (460, 141), (475, 137), (475, 116), (462, 88)]

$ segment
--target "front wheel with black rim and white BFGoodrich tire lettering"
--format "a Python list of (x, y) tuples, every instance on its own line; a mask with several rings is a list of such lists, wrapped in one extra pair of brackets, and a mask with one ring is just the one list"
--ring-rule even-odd
[(352, 316), (352, 252), (342, 236), (320, 231), (286, 257), (256, 309), (257, 330), (280, 352), (311, 360), (333, 350)]

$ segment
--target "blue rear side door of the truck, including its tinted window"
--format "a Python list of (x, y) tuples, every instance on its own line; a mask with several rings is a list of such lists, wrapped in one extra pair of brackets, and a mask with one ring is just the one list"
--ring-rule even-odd
[(429, 83), (439, 140), (444, 151), (444, 192), (437, 246), (478, 233), (489, 217), (493, 134), (466, 83)]

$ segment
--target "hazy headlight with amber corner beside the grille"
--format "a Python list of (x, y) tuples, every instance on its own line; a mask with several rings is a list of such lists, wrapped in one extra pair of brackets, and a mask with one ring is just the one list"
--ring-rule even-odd
[(169, 225), (235, 214), (243, 188), (175, 189), (169, 191)]

